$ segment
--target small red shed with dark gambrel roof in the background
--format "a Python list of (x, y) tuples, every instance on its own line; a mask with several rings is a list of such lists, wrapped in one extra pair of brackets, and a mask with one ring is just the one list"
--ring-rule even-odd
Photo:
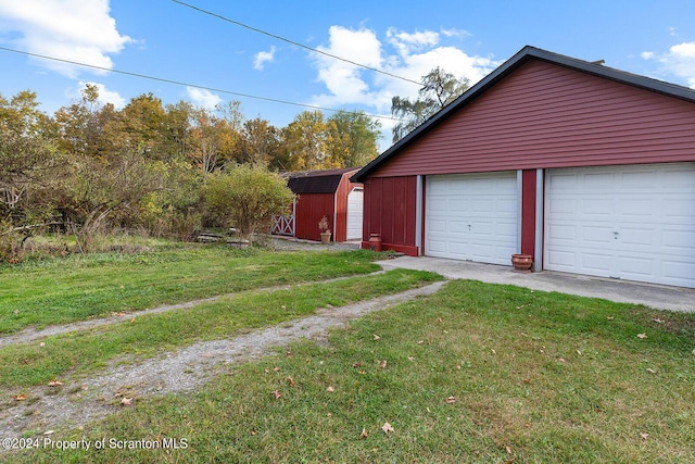
[(362, 238), (363, 185), (350, 177), (355, 167), (288, 173), (288, 187), (298, 196), (292, 215), (276, 217), (273, 233), (320, 240), (318, 223), (328, 218), (331, 240)]

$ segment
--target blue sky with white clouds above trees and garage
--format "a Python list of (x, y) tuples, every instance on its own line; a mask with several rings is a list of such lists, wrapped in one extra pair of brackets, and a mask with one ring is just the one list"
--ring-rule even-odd
[(386, 150), (392, 97), (437, 66), (473, 85), (527, 45), (695, 89), (692, 0), (0, 0), (0, 95), (52, 114), (89, 83), (116, 108), (239, 101), (278, 127), (364, 111)]

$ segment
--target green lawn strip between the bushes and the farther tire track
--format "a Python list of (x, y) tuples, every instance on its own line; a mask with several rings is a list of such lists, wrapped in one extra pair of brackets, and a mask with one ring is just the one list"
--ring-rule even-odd
[(0, 267), (0, 335), (261, 287), (366, 274), (377, 254), (224, 246), (108, 253)]

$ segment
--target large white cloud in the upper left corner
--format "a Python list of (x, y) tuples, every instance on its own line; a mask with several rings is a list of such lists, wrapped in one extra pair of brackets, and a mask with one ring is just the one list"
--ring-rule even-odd
[[(110, 10), (109, 0), (0, 0), (0, 30), (18, 34), (10, 41), (24, 51), (110, 70), (113, 62), (109, 54), (134, 41), (118, 33)], [(68, 77), (85, 70), (36, 60)]]

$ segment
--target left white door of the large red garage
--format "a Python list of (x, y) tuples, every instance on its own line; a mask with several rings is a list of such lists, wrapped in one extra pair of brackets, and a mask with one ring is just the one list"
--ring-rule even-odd
[(425, 254), (510, 265), (517, 192), (516, 172), (428, 176)]

